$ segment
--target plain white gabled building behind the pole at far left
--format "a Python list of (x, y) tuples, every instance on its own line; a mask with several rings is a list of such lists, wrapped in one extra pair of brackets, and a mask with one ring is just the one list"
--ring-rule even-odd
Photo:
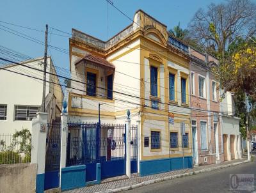
[[(44, 58), (24, 61), (22, 65), (44, 70)], [(44, 79), (44, 73), (22, 65), (10, 64), (0, 70), (0, 133), (2, 134), (12, 134), (15, 130), (22, 128), (31, 130), (31, 120), (42, 105), (43, 81), (39, 79)], [(51, 57), (47, 58), (47, 72), (56, 74)], [(53, 116), (51, 115), (49, 118), (51, 121), (55, 119), (56, 114), (61, 112), (61, 103), (58, 101), (63, 100), (63, 91), (58, 85), (60, 82), (56, 75), (47, 73), (46, 79), (56, 83), (46, 82), (45, 89), (45, 109), (47, 112), (50, 109), (54, 112)], [(53, 100), (54, 104), (52, 103)], [(55, 108), (52, 108), (52, 105)]]

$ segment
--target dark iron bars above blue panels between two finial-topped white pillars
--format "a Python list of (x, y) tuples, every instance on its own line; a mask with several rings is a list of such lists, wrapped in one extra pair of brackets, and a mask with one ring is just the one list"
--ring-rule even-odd
[(67, 166), (125, 158), (125, 125), (68, 123)]

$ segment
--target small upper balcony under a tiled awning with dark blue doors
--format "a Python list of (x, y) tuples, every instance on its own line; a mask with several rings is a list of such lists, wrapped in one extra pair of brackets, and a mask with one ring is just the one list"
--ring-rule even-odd
[[(86, 54), (74, 64), (76, 73), (72, 74), (72, 93), (68, 112), (86, 112), (96, 114), (99, 104), (106, 112), (113, 112), (113, 80), (115, 66), (104, 58)], [(102, 111), (104, 111), (102, 109)]]

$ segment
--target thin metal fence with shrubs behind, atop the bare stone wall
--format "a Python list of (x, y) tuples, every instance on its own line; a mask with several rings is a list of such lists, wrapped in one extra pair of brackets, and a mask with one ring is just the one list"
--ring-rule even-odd
[(31, 139), (15, 134), (0, 134), (0, 164), (28, 163), (31, 160)]

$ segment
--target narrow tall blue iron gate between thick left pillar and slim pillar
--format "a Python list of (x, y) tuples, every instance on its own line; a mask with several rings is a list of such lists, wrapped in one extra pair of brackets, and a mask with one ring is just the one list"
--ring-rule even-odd
[(60, 186), (61, 124), (47, 123), (44, 189)]

